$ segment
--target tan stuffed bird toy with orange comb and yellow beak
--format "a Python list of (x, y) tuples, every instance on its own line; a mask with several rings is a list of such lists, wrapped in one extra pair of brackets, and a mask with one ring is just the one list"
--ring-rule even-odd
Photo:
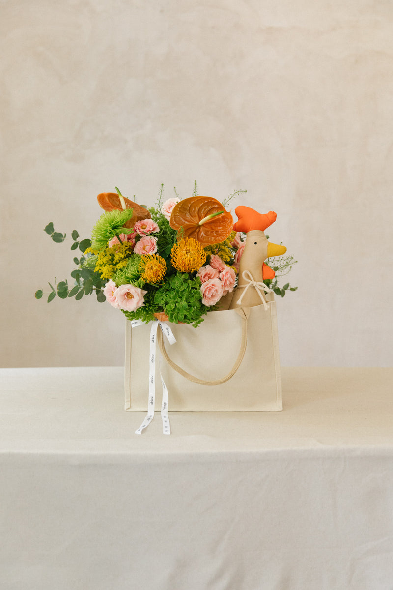
[(255, 209), (240, 205), (236, 207), (235, 213), (238, 221), (233, 225), (233, 229), (247, 234), (247, 240), (240, 258), (239, 283), (233, 291), (229, 309), (253, 307), (263, 303), (263, 279), (275, 276), (275, 271), (265, 264), (265, 260), (286, 253), (285, 246), (272, 244), (265, 236), (266, 228), (276, 221), (277, 215), (274, 211), (260, 214)]

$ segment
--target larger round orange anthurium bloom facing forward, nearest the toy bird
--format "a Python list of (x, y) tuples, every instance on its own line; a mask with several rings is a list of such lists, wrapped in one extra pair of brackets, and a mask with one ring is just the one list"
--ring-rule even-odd
[(232, 232), (233, 218), (217, 199), (190, 196), (174, 206), (170, 226), (178, 230), (178, 240), (193, 238), (205, 247), (226, 240)]

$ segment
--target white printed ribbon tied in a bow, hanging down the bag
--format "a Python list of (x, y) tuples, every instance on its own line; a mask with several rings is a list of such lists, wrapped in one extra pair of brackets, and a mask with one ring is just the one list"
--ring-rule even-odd
[[(141, 326), (142, 324), (144, 324), (142, 320), (131, 321), (131, 327), (133, 328)], [(157, 320), (156, 322), (151, 322), (147, 416), (138, 428), (138, 430), (135, 431), (135, 434), (142, 434), (144, 429), (148, 427), (148, 425), (154, 418), (154, 405), (156, 402), (156, 344), (158, 326), (160, 326), (160, 329), (162, 330), (164, 336), (166, 336), (170, 344), (174, 344), (176, 342), (176, 338), (173, 336), (173, 332), (167, 323), (160, 322), (159, 320)], [(163, 421), (163, 433), (170, 434), (170, 422), (168, 417), (169, 393), (167, 386), (165, 385), (163, 376), (161, 375), (161, 371), (160, 377), (161, 385), (163, 388), (163, 402), (161, 404), (161, 419)]]

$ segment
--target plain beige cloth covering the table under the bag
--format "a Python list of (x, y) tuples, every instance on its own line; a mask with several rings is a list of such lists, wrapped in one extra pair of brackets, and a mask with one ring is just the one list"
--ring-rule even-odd
[(123, 410), (123, 369), (0, 370), (1, 590), (393, 588), (393, 369), (283, 412)]

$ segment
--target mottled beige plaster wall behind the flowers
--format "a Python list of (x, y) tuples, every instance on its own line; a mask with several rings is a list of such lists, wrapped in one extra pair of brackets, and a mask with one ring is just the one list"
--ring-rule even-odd
[[(278, 214), (283, 365), (392, 364), (393, 2), (5, 0), (1, 364), (121, 365), (123, 314), (34, 299), (99, 192)], [(233, 207), (240, 204), (237, 199)]]

